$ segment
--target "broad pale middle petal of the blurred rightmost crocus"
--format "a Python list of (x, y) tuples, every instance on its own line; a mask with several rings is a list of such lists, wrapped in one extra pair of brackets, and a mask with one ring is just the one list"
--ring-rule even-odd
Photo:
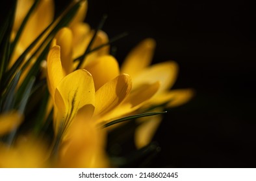
[(159, 92), (168, 90), (175, 83), (177, 78), (178, 65), (175, 61), (166, 61), (163, 63), (157, 63), (142, 70), (140, 74), (137, 74), (133, 78), (133, 89), (144, 83), (153, 83), (160, 81)]

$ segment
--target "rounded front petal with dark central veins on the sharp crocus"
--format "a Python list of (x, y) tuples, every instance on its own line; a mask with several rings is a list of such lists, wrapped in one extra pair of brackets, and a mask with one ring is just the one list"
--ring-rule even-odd
[(56, 89), (55, 103), (61, 115), (58, 118), (62, 117), (55, 124), (57, 129), (62, 124), (67, 129), (77, 111), (84, 105), (95, 105), (94, 81), (86, 70), (80, 69), (68, 74), (58, 83)]

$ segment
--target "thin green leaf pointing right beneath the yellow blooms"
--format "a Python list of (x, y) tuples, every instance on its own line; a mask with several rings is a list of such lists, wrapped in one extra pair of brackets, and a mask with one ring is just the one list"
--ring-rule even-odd
[(142, 114), (135, 114), (135, 115), (132, 115), (132, 116), (127, 116), (127, 117), (124, 117), (124, 118), (120, 118), (118, 120), (114, 120), (114, 121), (109, 122), (109, 123), (105, 123), (105, 125), (103, 125), (103, 127), (109, 127), (110, 125), (125, 122), (125, 121), (128, 121), (128, 120), (133, 120), (133, 119), (136, 119), (136, 118), (142, 118), (142, 117), (146, 117), (146, 116), (154, 116), (154, 115), (157, 115), (157, 114), (164, 114), (166, 112), (167, 111), (164, 111), (164, 112), (146, 112), (146, 113), (142, 113)]

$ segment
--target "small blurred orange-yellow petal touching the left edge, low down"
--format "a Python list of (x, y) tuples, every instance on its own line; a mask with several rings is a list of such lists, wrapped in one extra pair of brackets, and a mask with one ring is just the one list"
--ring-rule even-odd
[(0, 136), (19, 127), (23, 116), (19, 112), (7, 112), (0, 115)]

